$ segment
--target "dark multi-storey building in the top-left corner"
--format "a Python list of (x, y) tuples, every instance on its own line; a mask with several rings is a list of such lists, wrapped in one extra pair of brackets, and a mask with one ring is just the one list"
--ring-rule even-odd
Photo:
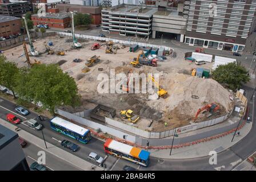
[(9, 2), (8, 0), (0, 0), (0, 15), (21, 17), (30, 9), (30, 2), (28, 1)]

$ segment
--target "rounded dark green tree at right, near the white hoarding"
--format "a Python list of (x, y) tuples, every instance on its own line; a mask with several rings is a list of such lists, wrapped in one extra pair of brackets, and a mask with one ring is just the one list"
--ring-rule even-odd
[(221, 84), (227, 84), (232, 90), (238, 89), (243, 83), (250, 81), (246, 68), (236, 63), (219, 65), (211, 75), (214, 80)]

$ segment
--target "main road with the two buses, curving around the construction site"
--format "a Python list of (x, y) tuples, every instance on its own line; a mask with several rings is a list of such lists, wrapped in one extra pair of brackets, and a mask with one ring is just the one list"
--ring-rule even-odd
[[(247, 98), (249, 99), (248, 100), (249, 106), (251, 108), (250, 113), (253, 112), (252, 108), (254, 108), (254, 113), (255, 113), (256, 107), (253, 107), (253, 102), (250, 101), (251, 95), (253, 94), (253, 89), (247, 88), (247, 87), (245, 87), (244, 89), (246, 89), (247, 91), (246, 94), (247, 94)], [(10, 111), (13, 111), (14, 107), (15, 105), (13, 103), (7, 100), (4, 100), (2, 98), (2, 102), (0, 101), (0, 117), (2, 119), (5, 119), (5, 115)], [(37, 114), (32, 112), (30, 115), (26, 117), (26, 119), (35, 118), (36, 116)], [(17, 117), (19, 117), (19, 115), (17, 115)], [(25, 119), (23, 119), (23, 121), (25, 121)], [(64, 135), (61, 135), (51, 130), (48, 121), (43, 121), (42, 123), (43, 123), (43, 126), (45, 127), (43, 129), (43, 133), (45, 134), (45, 138), (47, 142), (54, 144), (57, 147), (61, 147), (61, 144), (57, 140), (63, 140), (63, 139), (71, 140), (70, 138), (67, 138)], [(29, 131), (29, 133), (32, 133), (39, 138), (42, 138), (41, 132), (29, 129), (27, 126), (22, 124), (20, 124), (19, 126), (23, 130)], [(235, 166), (237, 166), (238, 163), (242, 162), (242, 160), (245, 160), (249, 155), (251, 155), (256, 150), (255, 133), (256, 133), (255, 114), (253, 114), (253, 127), (250, 133), (245, 138), (243, 138), (238, 143), (236, 143), (233, 147), (230, 147), (229, 149), (219, 153), (217, 156), (218, 163), (216, 165), (209, 164), (210, 156), (206, 156), (203, 158), (194, 158), (194, 159), (165, 159), (163, 162), (159, 161), (156, 158), (151, 158), (150, 166), (147, 168), (140, 167), (137, 164), (127, 162), (126, 160), (123, 160), (123, 159), (114, 158), (114, 156), (109, 156), (106, 159), (106, 165), (108, 170), (113, 170), (113, 171), (122, 170), (123, 166), (125, 165), (129, 165), (139, 170), (150, 170), (150, 171), (155, 171), (155, 170), (175, 170), (175, 171), (177, 170), (231, 170)], [(73, 142), (78, 144), (78, 146), (81, 149), (78, 150), (77, 152), (73, 152), (72, 154), (77, 155), (82, 159), (87, 160), (86, 156), (91, 151), (97, 152), (99, 155), (105, 156), (105, 152), (103, 151), (103, 142), (101, 140), (92, 138), (91, 141), (87, 144), (81, 144), (74, 140)], [(63, 150), (71, 152), (66, 148), (63, 148)], [(56, 168), (56, 167), (53, 167), (53, 168)]]

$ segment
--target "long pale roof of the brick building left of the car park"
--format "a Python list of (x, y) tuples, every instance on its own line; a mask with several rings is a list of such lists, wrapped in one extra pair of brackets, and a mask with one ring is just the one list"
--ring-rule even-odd
[(99, 6), (83, 6), (83, 5), (71, 5), (71, 4), (57, 4), (59, 11), (77, 11), (78, 13), (87, 14), (101, 14), (101, 7)]

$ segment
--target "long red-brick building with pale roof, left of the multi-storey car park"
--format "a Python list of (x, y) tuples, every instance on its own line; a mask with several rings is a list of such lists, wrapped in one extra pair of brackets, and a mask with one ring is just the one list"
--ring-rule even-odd
[(74, 11), (76, 13), (90, 14), (91, 18), (93, 18), (93, 22), (91, 24), (101, 24), (101, 7), (99, 7), (99, 6), (58, 4), (56, 7), (61, 12)]

